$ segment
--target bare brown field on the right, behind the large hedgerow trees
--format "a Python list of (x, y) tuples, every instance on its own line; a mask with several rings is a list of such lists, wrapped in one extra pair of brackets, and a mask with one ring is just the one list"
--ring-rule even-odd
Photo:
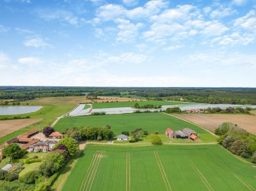
[(223, 122), (232, 122), (249, 133), (256, 134), (256, 116), (249, 114), (173, 114), (203, 128), (214, 131)]

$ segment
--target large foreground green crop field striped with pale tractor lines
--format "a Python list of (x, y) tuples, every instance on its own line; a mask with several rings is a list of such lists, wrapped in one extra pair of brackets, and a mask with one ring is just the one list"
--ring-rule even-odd
[(256, 190), (255, 175), (220, 145), (89, 145), (62, 190)]

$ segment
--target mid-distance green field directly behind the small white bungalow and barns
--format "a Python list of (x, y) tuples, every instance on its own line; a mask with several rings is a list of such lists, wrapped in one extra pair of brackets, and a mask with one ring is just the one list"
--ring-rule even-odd
[[(216, 137), (207, 131), (180, 120), (173, 116), (163, 113), (139, 113), (139, 114), (112, 114), (101, 116), (76, 116), (62, 118), (54, 126), (56, 131), (64, 132), (66, 128), (79, 127), (79, 126), (105, 126), (106, 124), (112, 127), (112, 130), (119, 135), (122, 131), (131, 131), (135, 128), (143, 128), (148, 133), (158, 131), (164, 134), (166, 128), (172, 130), (182, 130), (183, 128), (191, 128), (200, 133), (202, 142), (215, 142)], [(181, 139), (175, 139), (176, 142), (181, 142)]]

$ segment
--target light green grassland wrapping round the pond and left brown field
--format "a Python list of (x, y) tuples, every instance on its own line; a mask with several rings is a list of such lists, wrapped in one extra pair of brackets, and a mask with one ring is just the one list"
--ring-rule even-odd
[[(20, 130), (16, 130), (4, 137), (0, 138), (0, 145), (5, 141), (16, 137), (26, 131), (32, 130), (33, 128), (44, 128), (46, 126), (51, 126), (54, 120), (56, 120), (56, 116), (61, 116), (62, 114), (68, 113), (68, 111), (72, 110), (75, 105), (45, 105), (42, 109), (35, 113), (30, 114), (18, 114), (18, 115), (7, 115), (7, 116), (30, 116), (30, 118), (42, 118), (40, 122), (32, 124), (30, 126), (26, 126), (26, 128), (22, 128)], [(0, 116), (0, 118), (5, 116)]]

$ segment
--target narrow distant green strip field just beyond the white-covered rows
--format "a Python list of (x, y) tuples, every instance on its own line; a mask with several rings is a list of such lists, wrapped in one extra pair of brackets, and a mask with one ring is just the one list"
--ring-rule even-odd
[(114, 107), (134, 107), (135, 103), (139, 105), (186, 105), (189, 103), (179, 102), (179, 101), (119, 101), (119, 102), (109, 102), (109, 103), (93, 103), (93, 109), (102, 108), (114, 108)]

